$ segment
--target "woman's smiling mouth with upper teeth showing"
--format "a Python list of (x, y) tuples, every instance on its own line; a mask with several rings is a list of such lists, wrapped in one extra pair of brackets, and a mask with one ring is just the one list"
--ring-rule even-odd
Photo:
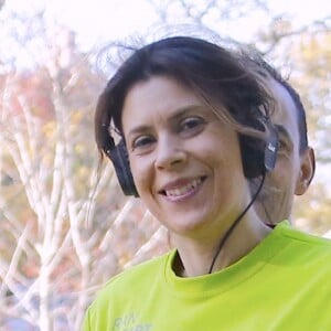
[(206, 177), (179, 179), (167, 183), (158, 193), (170, 202), (178, 202), (194, 195)]

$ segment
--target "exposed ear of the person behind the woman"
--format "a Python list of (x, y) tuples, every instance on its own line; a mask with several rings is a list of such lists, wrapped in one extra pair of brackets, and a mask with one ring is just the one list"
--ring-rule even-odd
[(300, 173), (296, 183), (296, 195), (302, 195), (308, 190), (316, 169), (314, 151), (311, 147), (308, 147), (307, 150), (300, 157)]

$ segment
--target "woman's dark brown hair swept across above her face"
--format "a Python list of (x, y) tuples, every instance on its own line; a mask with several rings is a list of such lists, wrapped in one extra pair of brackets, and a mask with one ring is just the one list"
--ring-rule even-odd
[(270, 98), (255, 75), (222, 46), (192, 36), (172, 36), (134, 51), (109, 79), (95, 114), (100, 151), (111, 122), (122, 136), (121, 110), (129, 89), (156, 75), (191, 88), (237, 132), (265, 139), (260, 116), (268, 116)]

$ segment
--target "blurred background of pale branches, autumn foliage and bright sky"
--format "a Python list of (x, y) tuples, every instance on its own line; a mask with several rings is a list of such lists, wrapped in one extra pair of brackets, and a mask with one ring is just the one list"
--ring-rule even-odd
[(102, 284), (168, 249), (98, 170), (93, 113), (118, 43), (194, 26), (265, 54), (300, 92), (317, 152), (293, 224), (331, 237), (329, 0), (0, 0), (0, 330), (79, 330)]

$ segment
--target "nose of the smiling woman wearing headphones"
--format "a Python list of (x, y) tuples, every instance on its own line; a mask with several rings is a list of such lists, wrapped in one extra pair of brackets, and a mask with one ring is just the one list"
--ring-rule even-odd
[(159, 137), (154, 166), (159, 170), (171, 170), (173, 167), (184, 164), (188, 159), (186, 151), (180, 139)]

